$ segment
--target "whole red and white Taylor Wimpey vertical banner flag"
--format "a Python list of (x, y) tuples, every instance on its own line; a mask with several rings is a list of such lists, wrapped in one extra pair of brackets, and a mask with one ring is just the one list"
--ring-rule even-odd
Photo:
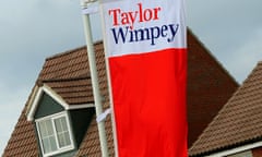
[(186, 157), (183, 0), (102, 2), (119, 157)]

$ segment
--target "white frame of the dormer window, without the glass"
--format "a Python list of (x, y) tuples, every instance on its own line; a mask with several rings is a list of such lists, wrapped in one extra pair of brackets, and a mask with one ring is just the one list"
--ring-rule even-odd
[[(55, 119), (58, 119), (58, 118), (61, 118), (61, 117), (66, 117), (66, 121), (67, 121), (67, 125), (68, 125), (68, 130), (69, 130), (69, 137), (70, 137), (70, 142), (71, 142), (70, 145), (64, 146), (64, 147), (59, 147), (58, 134), (57, 134), (57, 130), (56, 130), (56, 125), (55, 125)], [(45, 153), (38, 123), (40, 121), (45, 121), (45, 120), (48, 120), (48, 119), (51, 120), (51, 124), (52, 124), (52, 129), (53, 129), (53, 133), (55, 133), (55, 138), (56, 138), (56, 145), (57, 145), (58, 149), (55, 150), (55, 152)], [(52, 156), (52, 155), (62, 154), (64, 152), (69, 152), (69, 150), (74, 149), (74, 141), (73, 141), (73, 136), (72, 136), (72, 129), (71, 129), (71, 124), (69, 123), (69, 117), (68, 117), (67, 111), (62, 111), (62, 112), (59, 112), (59, 113), (56, 113), (56, 114), (51, 114), (51, 116), (47, 116), (47, 117), (44, 117), (44, 118), (36, 119), (35, 122), (36, 122), (36, 129), (37, 129), (37, 134), (38, 134), (38, 141), (40, 143), (41, 154), (44, 155), (44, 157), (49, 157), (49, 156)]]

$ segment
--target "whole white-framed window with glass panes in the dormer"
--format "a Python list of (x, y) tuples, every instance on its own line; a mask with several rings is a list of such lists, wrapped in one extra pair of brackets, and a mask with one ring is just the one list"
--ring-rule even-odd
[(44, 156), (74, 148), (69, 119), (66, 112), (37, 119), (36, 126)]

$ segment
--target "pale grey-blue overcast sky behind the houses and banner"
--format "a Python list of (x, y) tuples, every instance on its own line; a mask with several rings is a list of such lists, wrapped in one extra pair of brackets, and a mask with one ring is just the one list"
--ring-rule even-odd
[[(79, 0), (0, 0), (0, 155), (45, 58), (85, 44), (79, 3)], [(186, 0), (186, 3), (188, 26), (242, 83), (262, 60), (262, 1)], [(94, 38), (99, 39), (99, 24), (93, 25)]]

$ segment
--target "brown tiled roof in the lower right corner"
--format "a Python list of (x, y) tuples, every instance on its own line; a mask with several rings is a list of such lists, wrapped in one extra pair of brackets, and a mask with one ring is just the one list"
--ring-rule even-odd
[(203, 156), (261, 140), (262, 62), (259, 62), (189, 153)]

